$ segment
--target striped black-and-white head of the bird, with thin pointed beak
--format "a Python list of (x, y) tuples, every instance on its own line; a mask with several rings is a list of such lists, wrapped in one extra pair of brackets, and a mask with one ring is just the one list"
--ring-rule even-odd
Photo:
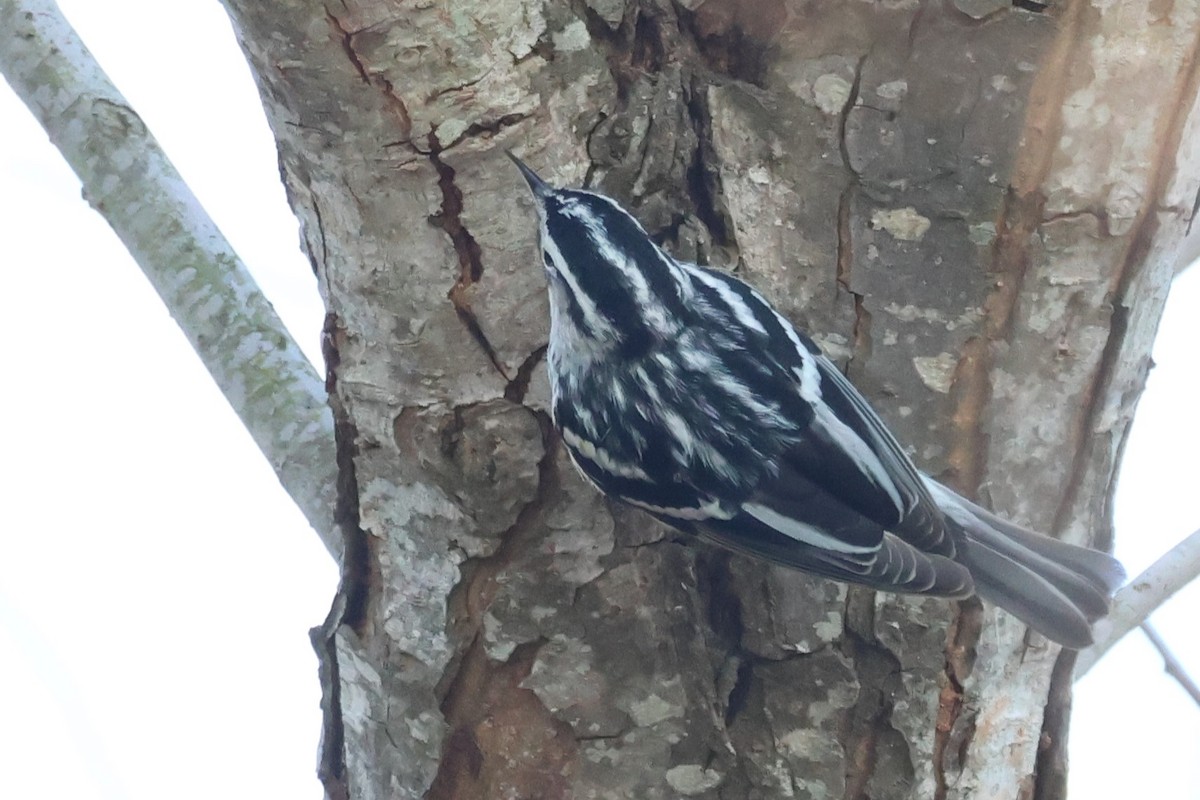
[(538, 207), (552, 341), (583, 337), (636, 353), (677, 335), (690, 283), (637, 219), (602, 194), (556, 188), (508, 155)]

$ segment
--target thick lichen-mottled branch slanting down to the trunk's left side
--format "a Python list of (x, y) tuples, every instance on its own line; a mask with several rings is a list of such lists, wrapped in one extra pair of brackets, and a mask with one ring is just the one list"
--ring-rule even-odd
[(336, 557), (337, 459), (320, 377), (58, 6), (0, 0), (0, 72)]

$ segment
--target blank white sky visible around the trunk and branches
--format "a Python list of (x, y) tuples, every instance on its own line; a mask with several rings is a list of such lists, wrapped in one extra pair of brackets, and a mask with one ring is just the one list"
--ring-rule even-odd
[[(215, 0), (61, 0), (317, 359), (322, 306)], [(0, 34), (2, 35), (2, 34)], [(319, 798), (336, 571), (116, 236), (0, 85), (6, 796)], [(1200, 270), (1176, 284), (1117, 500), (1130, 573), (1200, 528)], [(1156, 616), (1200, 676), (1200, 587)], [(1085, 678), (1072, 795), (1200, 799), (1200, 709), (1139, 636)]]

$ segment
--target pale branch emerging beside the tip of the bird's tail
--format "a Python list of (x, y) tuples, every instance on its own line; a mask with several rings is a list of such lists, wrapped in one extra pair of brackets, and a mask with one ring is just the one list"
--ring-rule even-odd
[(1200, 530), (1154, 561), (1117, 593), (1112, 613), (1096, 625), (1096, 644), (1081, 650), (1075, 662), (1079, 680), (1121, 638), (1138, 627), (1171, 595), (1200, 576)]

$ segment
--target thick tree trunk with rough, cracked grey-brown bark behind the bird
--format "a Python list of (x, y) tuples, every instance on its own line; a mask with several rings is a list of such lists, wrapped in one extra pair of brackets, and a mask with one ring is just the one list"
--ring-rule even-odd
[(329, 308), (330, 796), (1061, 793), (1069, 663), (1012, 618), (581, 482), (502, 149), (737, 269), (920, 465), (1088, 541), (1194, 212), (1196, 4), (226, 5)]

